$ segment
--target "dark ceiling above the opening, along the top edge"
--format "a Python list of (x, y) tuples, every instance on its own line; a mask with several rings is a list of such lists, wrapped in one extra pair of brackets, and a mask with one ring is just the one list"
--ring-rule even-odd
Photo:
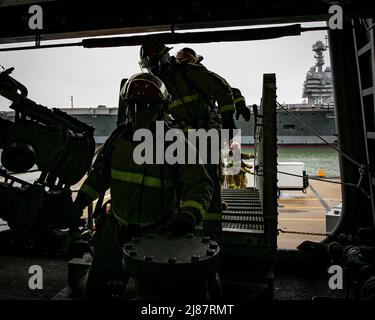
[[(9, 1), (8, 1), (9, 2)], [(31, 1), (1, 6), (0, 43), (34, 40)], [(330, 0), (174, 0), (42, 2), (42, 39), (321, 20)], [(337, 2), (337, 1), (331, 1)], [(374, 1), (343, 0), (344, 15), (375, 12)], [(18, 3), (18, 2), (16, 2)], [(38, 0), (33, 1), (34, 4)], [(79, 3), (79, 5), (78, 5)], [(130, 5), (129, 5), (130, 3)]]

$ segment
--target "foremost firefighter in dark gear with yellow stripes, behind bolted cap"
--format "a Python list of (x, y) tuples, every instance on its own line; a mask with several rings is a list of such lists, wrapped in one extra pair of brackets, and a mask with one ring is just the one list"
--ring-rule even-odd
[[(124, 84), (120, 96), (127, 104), (125, 123), (100, 150), (74, 202), (77, 219), (89, 203), (110, 189), (109, 214), (103, 215), (93, 238), (87, 299), (110, 297), (111, 284), (116, 284), (117, 291), (119, 286), (124, 290), (126, 241), (145, 232), (194, 232), (211, 202), (212, 181), (202, 164), (138, 164), (134, 160), (134, 149), (140, 144), (133, 140), (135, 130), (155, 132), (156, 122), (165, 119), (163, 87), (149, 73), (136, 74)], [(149, 147), (155, 150), (153, 141)]]

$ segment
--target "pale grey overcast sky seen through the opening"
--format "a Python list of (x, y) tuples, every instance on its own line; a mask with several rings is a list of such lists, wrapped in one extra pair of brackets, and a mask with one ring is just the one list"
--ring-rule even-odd
[[(204, 56), (203, 63), (208, 69), (241, 89), (247, 104), (259, 103), (264, 73), (276, 73), (279, 102), (301, 103), (306, 73), (315, 62), (312, 45), (318, 40), (325, 43), (325, 36), (325, 31), (313, 31), (262, 41), (177, 44), (171, 45), (170, 53), (190, 46)], [(63, 42), (79, 40), (65, 39)], [(0, 45), (0, 48), (7, 46)], [(326, 66), (330, 66), (329, 51), (325, 52), (325, 58)], [(140, 72), (138, 61), (139, 46), (0, 52), (0, 65), (15, 67), (12, 76), (28, 88), (30, 99), (58, 108), (70, 107), (71, 96), (76, 108), (117, 107), (120, 81)], [(0, 110), (10, 110), (9, 105), (8, 100), (0, 97)]]

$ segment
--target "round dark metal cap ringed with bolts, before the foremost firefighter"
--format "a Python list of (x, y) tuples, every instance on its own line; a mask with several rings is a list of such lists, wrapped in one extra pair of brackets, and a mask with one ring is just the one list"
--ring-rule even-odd
[(214, 274), (219, 252), (208, 237), (148, 234), (124, 245), (123, 266), (134, 277), (182, 282)]

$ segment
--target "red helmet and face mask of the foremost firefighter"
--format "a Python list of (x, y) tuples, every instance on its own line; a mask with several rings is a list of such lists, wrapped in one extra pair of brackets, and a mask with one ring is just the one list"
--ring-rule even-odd
[(121, 90), (126, 102), (125, 121), (134, 129), (149, 128), (164, 118), (167, 91), (160, 79), (149, 73), (138, 73), (128, 79)]

